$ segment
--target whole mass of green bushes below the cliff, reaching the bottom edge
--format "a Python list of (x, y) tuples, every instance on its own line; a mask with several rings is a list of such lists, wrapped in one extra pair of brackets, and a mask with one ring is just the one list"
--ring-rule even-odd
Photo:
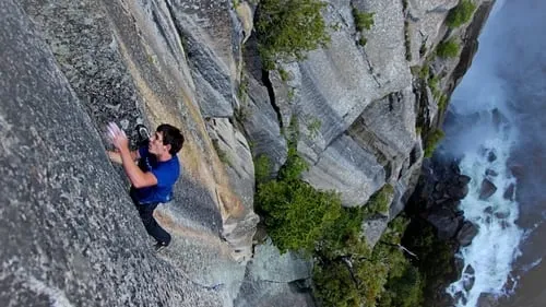
[(343, 208), (337, 193), (300, 179), (308, 165), (296, 151), (295, 118), (285, 134), (288, 157), (276, 179), (266, 179), (269, 160), (259, 156), (254, 163), (257, 210), (282, 252), (300, 251), (316, 260), (312, 278), (321, 306), (420, 306), (422, 278), (400, 245), (406, 220), (393, 220), (373, 249), (361, 234), (367, 216), (389, 210), (393, 187), (384, 186), (365, 206)]

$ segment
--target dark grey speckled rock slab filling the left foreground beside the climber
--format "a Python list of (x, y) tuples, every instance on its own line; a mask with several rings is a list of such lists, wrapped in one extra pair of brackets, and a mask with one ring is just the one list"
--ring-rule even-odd
[(0, 16), (2, 305), (221, 306), (154, 255), (99, 135), (22, 9), (1, 1)]

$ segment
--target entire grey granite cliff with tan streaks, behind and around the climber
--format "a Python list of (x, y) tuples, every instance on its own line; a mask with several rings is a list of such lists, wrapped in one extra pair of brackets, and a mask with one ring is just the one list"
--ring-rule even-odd
[[(301, 290), (309, 262), (252, 247), (252, 158), (268, 155), (276, 173), (283, 128), (297, 118), (306, 181), (347, 206), (390, 184), (397, 214), (420, 172), (422, 134), (441, 122), (434, 92), (454, 88), (491, 7), (476, 1), (474, 21), (449, 29), (456, 0), (327, 2), (330, 45), (280, 62), (286, 78), (263, 71), (256, 4), (245, 1), (1, 1), (0, 302), (312, 306)], [(369, 31), (357, 33), (353, 8), (375, 13)], [(452, 37), (461, 57), (435, 57)], [(416, 73), (424, 66), (435, 86)], [(174, 234), (166, 252), (152, 252), (104, 153), (110, 120), (132, 134), (170, 122), (187, 138), (175, 200), (157, 212)], [(391, 216), (367, 222), (370, 243)]]

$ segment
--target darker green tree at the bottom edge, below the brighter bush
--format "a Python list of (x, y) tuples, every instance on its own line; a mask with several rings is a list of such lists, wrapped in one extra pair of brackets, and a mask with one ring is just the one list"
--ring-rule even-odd
[[(319, 251), (319, 261), (313, 271), (317, 287), (316, 296), (322, 306), (360, 307), (360, 306), (420, 306), (422, 278), (404, 257), (400, 243), (407, 225), (403, 217), (393, 220), (381, 236), (373, 250), (369, 250), (358, 237), (363, 215), (347, 213), (349, 226), (335, 223), (337, 229), (330, 241), (337, 252)], [(352, 231), (348, 231), (352, 229)], [(352, 233), (354, 232), (354, 233)], [(355, 236), (356, 235), (356, 236)]]

